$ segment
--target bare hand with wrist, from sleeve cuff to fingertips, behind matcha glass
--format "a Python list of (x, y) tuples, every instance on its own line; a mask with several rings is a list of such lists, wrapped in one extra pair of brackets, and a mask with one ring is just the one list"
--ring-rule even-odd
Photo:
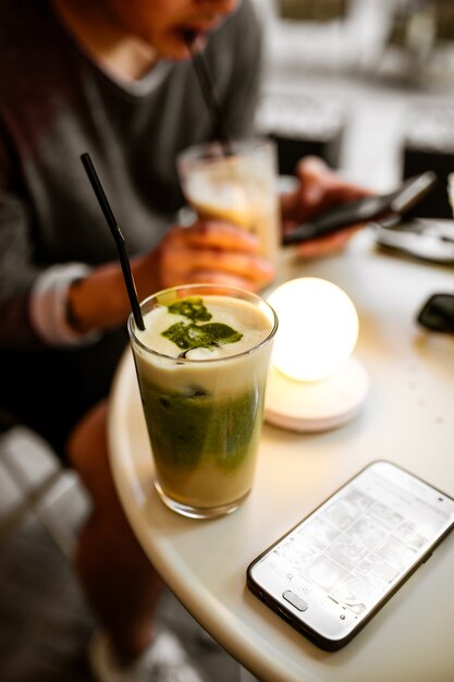
[[(256, 235), (226, 222), (173, 227), (157, 248), (131, 259), (140, 301), (167, 287), (212, 283), (257, 291), (274, 277), (273, 266), (258, 255)], [(72, 324), (82, 332), (111, 329), (131, 312), (116, 261), (74, 282), (69, 291)]]

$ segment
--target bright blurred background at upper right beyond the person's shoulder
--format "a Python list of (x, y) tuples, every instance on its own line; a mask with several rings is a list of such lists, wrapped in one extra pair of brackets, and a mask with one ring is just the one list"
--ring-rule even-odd
[(319, 154), (377, 191), (434, 170), (418, 215), (452, 217), (454, 3), (451, 0), (256, 0), (267, 31), (258, 125), (280, 170)]

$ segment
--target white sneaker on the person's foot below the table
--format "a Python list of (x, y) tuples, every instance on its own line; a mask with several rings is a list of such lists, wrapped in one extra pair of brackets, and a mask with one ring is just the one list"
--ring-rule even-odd
[(102, 632), (94, 634), (88, 656), (98, 682), (204, 682), (183, 645), (168, 630), (159, 632), (140, 658), (128, 666), (116, 660)]

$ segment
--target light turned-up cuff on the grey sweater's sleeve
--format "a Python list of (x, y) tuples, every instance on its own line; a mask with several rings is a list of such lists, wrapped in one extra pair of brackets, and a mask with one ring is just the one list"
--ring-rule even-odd
[(47, 345), (89, 345), (99, 339), (99, 331), (81, 333), (68, 321), (68, 291), (74, 281), (87, 277), (90, 271), (91, 268), (82, 263), (54, 265), (35, 280), (29, 315), (36, 333)]

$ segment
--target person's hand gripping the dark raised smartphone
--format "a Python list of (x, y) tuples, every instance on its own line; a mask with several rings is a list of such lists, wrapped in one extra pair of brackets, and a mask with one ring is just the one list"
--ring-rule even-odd
[[(348, 202), (369, 196), (371, 192), (352, 184), (331, 170), (318, 157), (305, 157), (297, 167), (298, 187), (281, 197), (283, 230), (291, 231), (318, 214)], [(300, 256), (318, 257), (345, 246), (363, 224), (349, 226), (296, 246)]]

